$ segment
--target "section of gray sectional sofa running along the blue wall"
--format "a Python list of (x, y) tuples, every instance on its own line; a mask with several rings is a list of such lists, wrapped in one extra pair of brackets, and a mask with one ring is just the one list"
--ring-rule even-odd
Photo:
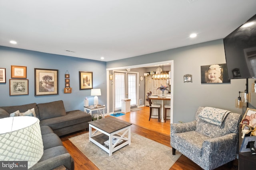
[(81, 110), (66, 112), (62, 100), (42, 104), (32, 103), (0, 107), (0, 118), (10, 117), (10, 113), (17, 110), (24, 113), (32, 108), (34, 108), (36, 117), (40, 120), (40, 126), (50, 126), (58, 136), (88, 129), (88, 122), (92, 120), (90, 114)]

